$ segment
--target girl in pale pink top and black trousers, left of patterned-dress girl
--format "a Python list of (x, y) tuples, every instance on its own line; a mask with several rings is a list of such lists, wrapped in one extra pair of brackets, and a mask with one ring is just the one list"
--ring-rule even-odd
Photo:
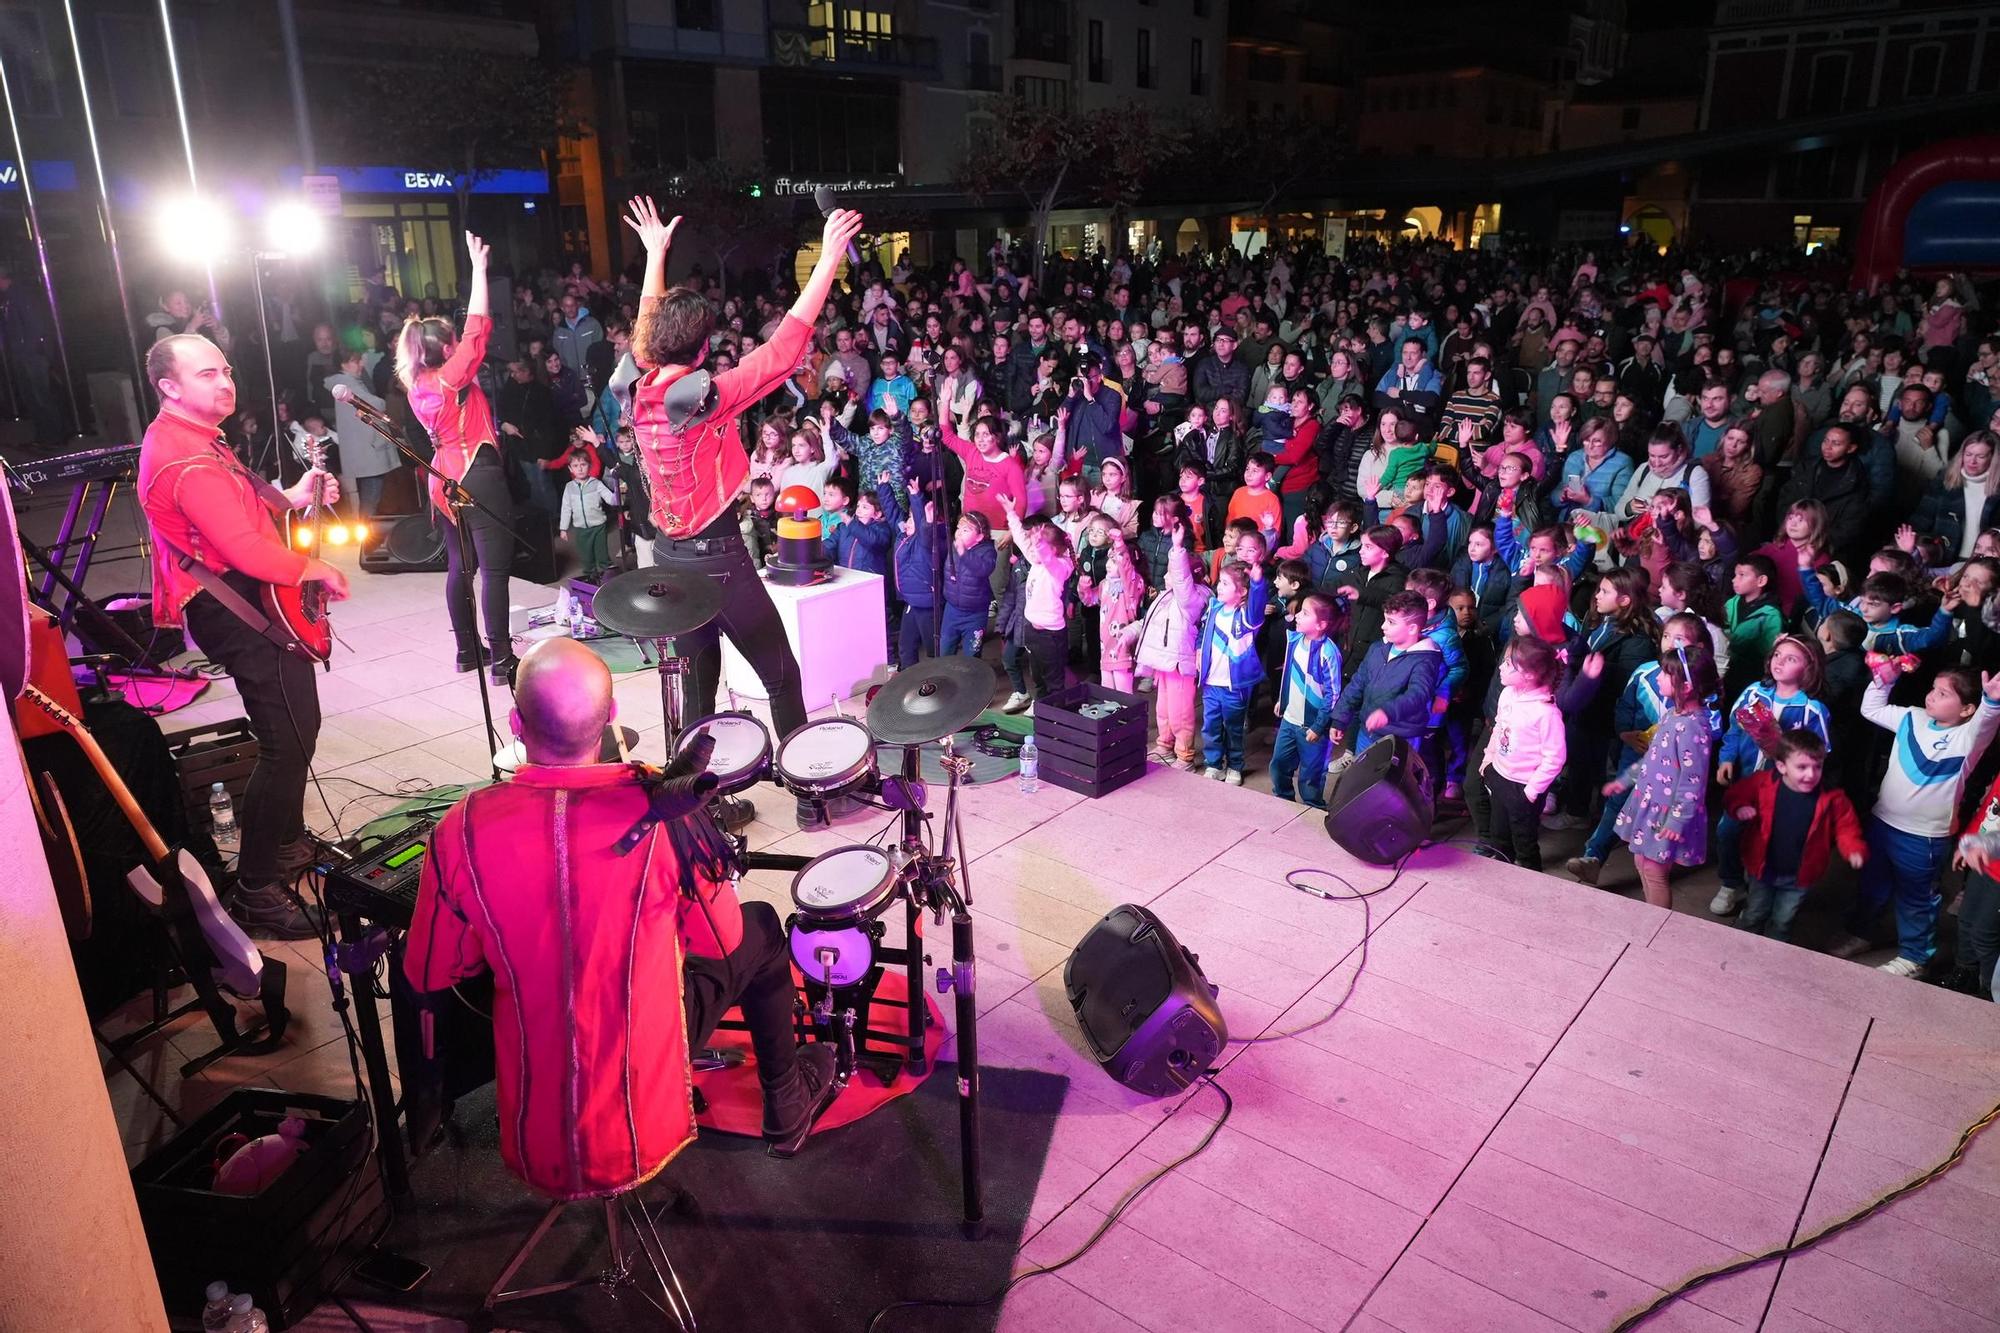
[(1562, 773), (1568, 745), (1556, 707), (1556, 650), (1532, 634), (1500, 654), (1500, 709), (1480, 759), (1492, 801), (1490, 845), (1514, 865), (1542, 869), (1542, 797)]

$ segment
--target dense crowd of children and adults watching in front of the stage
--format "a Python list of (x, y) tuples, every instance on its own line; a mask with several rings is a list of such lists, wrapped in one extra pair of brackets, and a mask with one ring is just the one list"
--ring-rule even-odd
[[(692, 282), (718, 372), (792, 294)], [(322, 378), (394, 398), (370, 362), (420, 302), (392, 296), (312, 334)], [(628, 280), (548, 272), (496, 354), (516, 498), (592, 566), (650, 536), (636, 314)], [(1544, 869), (1576, 829), (1566, 875), (1598, 883), (1624, 845), (1654, 903), (1712, 865), (1710, 911), (1778, 939), (1848, 863), (1836, 953), (1890, 909), (1884, 971), (1984, 995), (1992, 328), (1960, 276), (1862, 296), (1798, 254), (1276, 244), (1054, 258), (1040, 284), (1002, 246), (870, 264), (744, 416), (742, 530), (768, 552), (778, 496), (812, 488), (828, 556), (884, 574), (892, 660), (986, 652), (1016, 713), (1074, 675), (1150, 693), (1154, 759), (1220, 783), (1268, 739), (1272, 789), (1324, 805), (1402, 739), (1490, 855)], [(334, 404), (300, 410), (310, 434)]]

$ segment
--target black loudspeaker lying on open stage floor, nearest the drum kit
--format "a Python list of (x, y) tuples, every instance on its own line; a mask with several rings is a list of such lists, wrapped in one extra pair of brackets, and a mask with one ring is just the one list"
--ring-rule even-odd
[(1062, 967), (1104, 1073), (1148, 1097), (1194, 1083), (1230, 1039), (1200, 961), (1144, 907), (1114, 907)]

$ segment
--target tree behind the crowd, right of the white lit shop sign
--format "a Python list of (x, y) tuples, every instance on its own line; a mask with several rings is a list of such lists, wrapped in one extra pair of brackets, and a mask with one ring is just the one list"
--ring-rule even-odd
[[(1184, 146), (1184, 128), (1142, 106), (1070, 112), (1018, 96), (992, 104), (960, 168), (982, 198), (1018, 194), (1034, 234), (1034, 280), (1042, 282), (1048, 218), (1066, 204), (1104, 204), (1114, 216), (1138, 202), (1156, 168)], [(1122, 230), (1120, 230), (1122, 236)]]

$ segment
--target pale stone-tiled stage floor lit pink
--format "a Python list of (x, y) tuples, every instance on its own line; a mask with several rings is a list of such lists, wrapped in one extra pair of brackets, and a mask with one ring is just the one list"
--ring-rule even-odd
[[(358, 576), (338, 608), (318, 773), (340, 831), (398, 789), (484, 777), (478, 695), (452, 673), (440, 582)], [(656, 677), (622, 677), (616, 693), (640, 757), (658, 759)], [(504, 727), (504, 693), (496, 709)], [(218, 687), (166, 727), (234, 715)], [(798, 833), (786, 797), (754, 795), (760, 849), (858, 843), (886, 819)], [(1320, 867), (1376, 887), (1386, 871), (1348, 859), (1300, 807), (1194, 775), (1154, 769), (1098, 801), (1002, 783), (964, 809), (982, 1061), (1072, 1079), (1024, 1265), (1066, 1255), (1222, 1105), (1208, 1089), (1136, 1097), (1082, 1053), (1062, 963), (1092, 921), (1118, 903), (1160, 913), (1222, 987), (1236, 1037), (1324, 1017), (1362, 969), (1330, 1023), (1228, 1047), (1218, 1079), (1236, 1109), (1214, 1145), (1080, 1263), (1018, 1289), (1004, 1329), (1608, 1329), (1692, 1269), (1902, 1183), (2000, 1101), (1994, 1005), (1460, 847), (1418, 853), (1364, 911), (1284, 875)], [(334, 831), (316, 795), (308, 815)], [(784, 885), (756, 875), (748, 893), (780, 901)], [(286, 1049), (182, 1083), (182, 1057), (160, 1043), (148, 1069), (170, 1097), (200, 1109), (238, 1083), (352, 1089), (316, 953), (278, 949), (296, 959)], [(130, 1079), (110, 1085), (136, 1159), (158, 1117)], [(1704, 1287), (1646, 1327), (2000, 1333), (1996, 1217), (2000, 1131), (1856, 1231)], [(328, 1313), (310, 1327), (348, 1325)]]

